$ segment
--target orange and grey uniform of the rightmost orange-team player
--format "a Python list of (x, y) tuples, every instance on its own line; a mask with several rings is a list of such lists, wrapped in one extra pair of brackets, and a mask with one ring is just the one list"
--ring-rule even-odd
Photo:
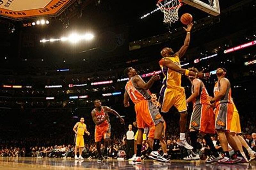
[[(214, 96), (220, 92), (220, 80), (215, 84)], [(234, 107), (231, 98), (231, 87), (228, 83), (226, 93), (220, 100), (215, 102), (216, 115), (215, 115), (215, 129), (230, 131), (231, 120), (234, 112)]]

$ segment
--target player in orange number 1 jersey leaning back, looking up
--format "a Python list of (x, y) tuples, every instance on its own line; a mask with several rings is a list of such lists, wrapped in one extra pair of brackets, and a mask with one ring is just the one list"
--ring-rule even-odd
[(149, 88), (156, 80), (160, 79), (159, 75), (153, 75), (152, 78), (145, 83), (138, 75), (137, 71), (132, 67), (128, 67), (124, 70), (124, 75), (130, 80), (125, 85), (124, 93), (124, 107), (129, 106), (129, 98), (135, 104), (136, 122), (139, 129), (139, 135), (137, 138), (137, 158), (135, 163), (140, 163), (142, 135), (144, 128), (156, 126), (154, 133), (153, 151), (150, 153), (150, 157), (155, 160), (167, 162), (165, 158), (159, 155), (157, 152), (159, 149), (160, 137), (163, 131), (164, 119), (158, 112), (158, 109), (151, 101)]

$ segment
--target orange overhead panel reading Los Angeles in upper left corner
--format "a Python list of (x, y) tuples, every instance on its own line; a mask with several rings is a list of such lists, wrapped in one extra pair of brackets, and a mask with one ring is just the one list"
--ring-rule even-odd
[(14, 20), (58, 16), (75, 0), (0, 0), (0, 16)]

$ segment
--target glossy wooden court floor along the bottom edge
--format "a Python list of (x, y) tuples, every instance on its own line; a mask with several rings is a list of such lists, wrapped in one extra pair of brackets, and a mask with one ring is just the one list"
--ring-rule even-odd
[(256, 161), (245, 164), (236, 165), (223, 165), (223, 164), (205, 164), (204, 161), (183, 161), (183, 160), (171, 160), (170, 163), (162, 163), (153, 160), (144, 160), (141, 165), (134, 165), (128, 161), (117, 160), (105, 160), (103, 163), (97, 163), (96, 160), (84, 159), (83, 161), (77, 161), (74, 159), (54, 159), (54, 158), (7, 158), (0, 157), (0, 170), (12, 170), (12, 169), (187, 169), (187, 170), (199, 170), (199, 169), (256, 169)]

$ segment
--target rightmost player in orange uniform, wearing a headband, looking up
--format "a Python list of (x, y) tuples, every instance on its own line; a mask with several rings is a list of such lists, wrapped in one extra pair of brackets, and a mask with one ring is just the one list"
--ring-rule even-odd
[[(215, 104), (215, 129), (218, 133), (221, 147), (225, 152), (225, 156), (218, 160), (218, 162), (226, 164), (248, 162), (239, 138), (234, 132), (230, 133), (234, 106), (231, 97), (231, 85), (229, 80), (225, 78), (226, 74), (227, 70), (224, 68), (216, 70), (218, 81), (214, 87), (214, 98), (208, 97), (210, 102)], [(228, 143), (238, 155), (234, 160), (230, 158)]]

